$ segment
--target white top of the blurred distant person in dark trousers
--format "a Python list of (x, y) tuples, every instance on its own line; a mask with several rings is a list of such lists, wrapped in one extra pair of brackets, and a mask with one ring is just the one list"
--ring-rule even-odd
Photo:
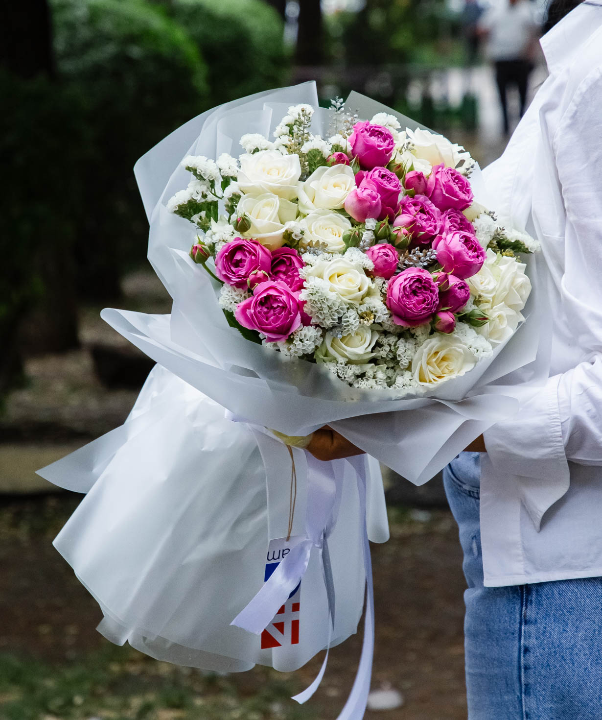
[(485, 12), (479, 27), (488, 32), (488, 58), (517, 60), (526, 56), (537, 23), (529, 0), (518, 0), (515, 4), (503, 0), (500, 6)]

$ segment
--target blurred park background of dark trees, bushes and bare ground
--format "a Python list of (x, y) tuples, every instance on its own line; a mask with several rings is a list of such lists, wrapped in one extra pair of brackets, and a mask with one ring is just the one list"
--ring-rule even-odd
[[(137, 158), (210, 107), (315, 79), (324, 104), (355, 89), (464, 144), (485, 166), (508, 137), (501, 84), (505, 92), (529, 76), (528, 102), (546, 76), (536, 40), (547, 8), (479, 1), (1, 5), (1, 720), (337, 716), (360, 637), (334, 649), (302, 708), (288, 698), (321, 658), (294, 675), (216, 676), (104, 641), (96, 604), (51, 545), (79, 496), (34, 471), (121, 424), (152, 366), (99, 318), (107, 305), (170, 311), (145, 258)], [(496, 13), (516, 4), (531, 23), (519, 50), (493, 37), (505, 22)], [(521, 77), (504, 80), (499, 63), (517, 58)], [(511, 130), (521, 110), (514, 88), (507, 107)], [(392, 474), (386, 483), (392, 538), (373, 547), (373, 688), (383, 692), (366, 717), (465, 718), (465, 583), (441, 483), (414, 488)]]

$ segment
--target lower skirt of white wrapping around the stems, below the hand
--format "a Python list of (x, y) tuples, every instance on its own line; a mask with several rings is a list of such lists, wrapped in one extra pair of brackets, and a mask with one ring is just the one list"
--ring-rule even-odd
[[(112, 642), (207, 670), (236, 672), (257, 662), (296, 670), (329, 636), (320, 551), (312, 549), (301, 582), (298, 644), (260, 649), (260, 636), (231, 625), (263, 585), (268, 537), (287, 534), (291, 463), (286, 447), (267, 438), (282, 451), (286, 469), (280, 477), (268, 474), (266, 487), (255, 434), (225, 415), (214, 400), (155, 366), (124, 426), (43, 471), (48, 480), (87, 493), (55, 547), (101, 606), (99, 631)], [(293, 453), (292, 541), (304, 535), (307, 508), (306, 454)], [(332, 466), (331, 645), (355, 633), (366, 582), (356, 470), (345, 460)], [(366, 475), (369, 533), (383, 541), (388, 527), (378, 468)]]

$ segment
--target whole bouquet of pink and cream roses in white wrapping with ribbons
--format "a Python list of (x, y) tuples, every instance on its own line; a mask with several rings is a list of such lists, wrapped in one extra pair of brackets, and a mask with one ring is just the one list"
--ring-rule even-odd
[[(206, 112), (135, 172), (173, 309), (102, 313), (158, 366), (121, 428), (41, 471), (87, 493), (55, 546), (105, 636), (214, 670), (304, 665), (367, 588), (359, 719), (377, 460), (426, 482), (516, 412), (513, 373), (546, 375), (537, 243), (463, 148), (313, 83)], [(314, 459), (324, 424), (368, 455)]]

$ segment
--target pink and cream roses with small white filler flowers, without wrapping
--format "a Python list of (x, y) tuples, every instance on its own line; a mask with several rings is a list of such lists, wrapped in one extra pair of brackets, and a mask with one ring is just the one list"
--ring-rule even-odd
[(185, 158), (168, 210), (196, 225), (191, 258), (245, 338), (419, 394), (514, 333), (531, 290), (516, 253), (537, 243), (475, 202), (464, 148), (391, 114), (332, 113), (329, 138), (296, 105), (238, 158)]

